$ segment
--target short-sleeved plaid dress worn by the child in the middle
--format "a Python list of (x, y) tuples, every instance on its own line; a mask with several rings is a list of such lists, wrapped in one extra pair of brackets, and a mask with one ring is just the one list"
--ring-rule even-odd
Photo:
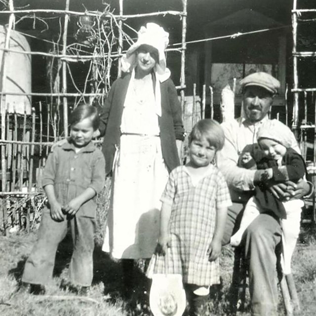
[(210, 165), (199, 181), (193, 181), (186, 166), (179, 166), (170, 173), (161, 201), (172, 204), (167, 269), (165, 257), (155, 254), (149, 271), (181, 274), (188, 284), (219, 283), (219, 260), (209, 262), (207, 249), (215, 230), (216, 209), (231, 205), (222, 173)]

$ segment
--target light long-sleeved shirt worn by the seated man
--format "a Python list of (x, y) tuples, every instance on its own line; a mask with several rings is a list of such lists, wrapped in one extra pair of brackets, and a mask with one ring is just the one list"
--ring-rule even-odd
[[(246, 201), (249, 198), (249, 191), (254, 190), (253, 180), (256, 170), (238, 167), (237, 162), (246, 145), (257, 143), (258, 129), (267, 119), (268, 116), (259, 122), (251, 123), (245, 118), (237, 118), (221, 124), (225, 143), (223, 149), (217, 152), (217, 166), (227, 181), (234, 202)], [(291, 147), (300, 153), (294, 134), (292, 135)], [(245, 191), (248, 191), (248, 194)]]

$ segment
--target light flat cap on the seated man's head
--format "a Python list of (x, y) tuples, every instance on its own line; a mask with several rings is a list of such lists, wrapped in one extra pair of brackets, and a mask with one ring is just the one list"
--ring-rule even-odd
[(240, 86), (242, 89), (249, 85), (258, 85), (269, 92), (276, 94), (277, 89), (280, 87), (280, 81), (267, 73), (259, 72), (253, 73), (240, 80)]

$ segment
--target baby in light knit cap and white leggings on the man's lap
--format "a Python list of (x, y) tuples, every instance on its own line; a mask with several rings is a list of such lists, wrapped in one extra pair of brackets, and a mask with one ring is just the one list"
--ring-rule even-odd
[[(276, 119), (267, 120), (260, 126), (257, 133), (259, 148), (249, 153), (249, 161), (244, 166), (262, 169), (262, 182), (256, 185), (254, 197), (245, 206), (239, 230), (230, 241), (233, 246), (238, 246), (244, 231), (260, 213), (268, 212), (281, 219), (281, 265), (285, 275), (291, 273), (291, 258), (300, 232), (304, 202), (301, 199), (281, 201), (268, 188), (269, 182), (273, 184), (289, 180), (296, 183), (307, 173), (304, 159), (291, 148), (293, 138), (291, 130)], [(246, 155), (243, 157), (246, 158)]]

